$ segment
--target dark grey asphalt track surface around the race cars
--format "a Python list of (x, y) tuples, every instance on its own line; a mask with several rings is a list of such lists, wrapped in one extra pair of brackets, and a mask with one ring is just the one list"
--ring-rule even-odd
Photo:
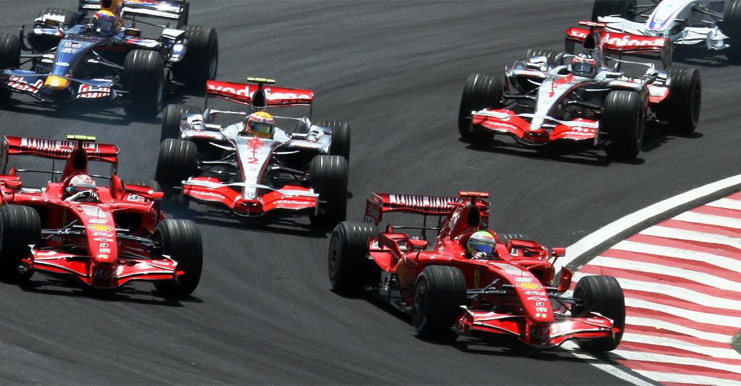
[[(601, 151), (472, 148), (456, 111), (469, 73), (499, 74), (528, 48), (559, 50), (591, 1), (192, 1), (190, 23), (216, 27), (219, 79), (268, 76), (316, 91), (319, 120), (350, 122), (350, 218), (371, 192), (489, 192), (490, 226), (568, 246), (659, 200), (739, 174), (741, 69), (725, 56), (682, 54), (700, 69), (697, 134), (654, 135), (639, 159)], [(0, 30), (43, 7), (0, 1)], [(159, 118), (120, 108), (79, 115), (26, 97), (0, 111), (0, 132), (95, 135), (121, 147), (122, 177), (152, 178)], [(171, 99), (182, 102), (182, 99)], [(150, 284), (99, 295), (35, 275), (0, 284), (0, 382), (5, 384), (487, 384), (623, 383), (556, 350), (422, 341), (408, 318), (330, 291), (328, 232), (308, 219), (237, 220), (205, 206), (168, 215), (199, 223), (205, 246), (193, 296), (167, 301)]]

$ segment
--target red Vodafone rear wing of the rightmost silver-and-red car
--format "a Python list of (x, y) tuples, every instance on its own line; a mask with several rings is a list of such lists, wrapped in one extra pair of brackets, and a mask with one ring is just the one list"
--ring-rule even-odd
[(599, 49), (603, 53), (658, 57), (664, 68), (671, 64), (674, 45), (669, 39), (611, 32), (605, 30), (607, 24), (599, 22), (579, 22), (579, 25), (588, 28), (572, 27), (566, 30), (566, 50), (571, 53), (574, 53), (573, 47), (578, 43), (586, 49)]

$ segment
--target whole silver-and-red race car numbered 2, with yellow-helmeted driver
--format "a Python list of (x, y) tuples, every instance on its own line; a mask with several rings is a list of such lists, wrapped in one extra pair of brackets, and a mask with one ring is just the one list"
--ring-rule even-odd
[[(247, 81), (208, 81), (213, 97), (205, 111), (167, 106), (156, 179), (166, 188), (182, 186), (187, 200), (236, 215), (305, 213), (330, 226), (345, 220), (350, 126), (270, 115), (268, 108), (311, 108), (313, 91), (273, 87), (273, 79)], [(213, 107), (224, 100), (249, 111)]]

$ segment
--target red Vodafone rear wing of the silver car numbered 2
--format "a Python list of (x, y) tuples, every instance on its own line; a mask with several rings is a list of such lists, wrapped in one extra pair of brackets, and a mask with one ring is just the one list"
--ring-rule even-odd
[[(265, 81), (265, 82), (263, 82)], [(256, 109), (268, 107), (311, 107), (314, 92), (300, 88), (264, 87), (265, 83), (275, 82), (272, 79), (254, 80), (256, 85), (247, 83), (206, 82), (206, 95), (227, 99), (242, 105), (250, 105)]]

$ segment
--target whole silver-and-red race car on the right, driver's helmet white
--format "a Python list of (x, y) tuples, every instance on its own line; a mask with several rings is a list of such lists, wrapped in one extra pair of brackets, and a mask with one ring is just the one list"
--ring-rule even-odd
[[(639, 154), (645, 128), (666, 127), (691, 134), (700, 119), (700, 73), (667, 67), (671, 42), (662, 37), (608, 32), (605, 24), (566, 31), (567, 52), (528, 50), (505, 69), (504, 80), (468, 77), (458, 115), (459, 134), (489, 142), (495, 134), (536, 146), (559, 141), (605, 149), (609, 157)], [(574, 47), (582, 52), (574, 55)], [(658, 55), (631, 62), (624, 55)], [(622, 68), (631, 70), (622, 71)]]

